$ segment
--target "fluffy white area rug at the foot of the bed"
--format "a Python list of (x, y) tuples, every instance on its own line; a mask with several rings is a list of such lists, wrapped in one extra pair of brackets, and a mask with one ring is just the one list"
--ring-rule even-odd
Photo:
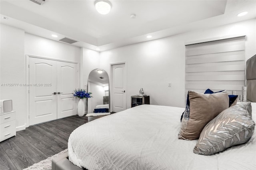
[(28, 168), (25, 168), (23, 170), (52, 170), (52, 158), (55, 158), (59, 156), (60, 154), (67, 152), (68, 149), (62, 150), (60, 153), (55, 154), (54, 156), (51, 156), (45, 160), (41, 160), (38, 163), (35, 163)]

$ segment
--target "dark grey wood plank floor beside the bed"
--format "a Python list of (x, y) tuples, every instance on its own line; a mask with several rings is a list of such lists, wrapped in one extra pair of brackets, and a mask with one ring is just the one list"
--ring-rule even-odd
[(0, 170), (22, 170), (68, 148), (71, 132), (87, 122), (75, 115), (18, 131), (0, 142)]

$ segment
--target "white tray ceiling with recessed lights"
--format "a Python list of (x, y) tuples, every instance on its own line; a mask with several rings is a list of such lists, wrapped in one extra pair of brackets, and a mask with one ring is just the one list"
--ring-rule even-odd
[[(256, 18), (256, 0), (109, 1), (111, 11), (102, 15), (94, 7), (95, 0), (46, 0), (42, 5), (0, 0), (0, 22), (56, 41), (68, 37), (78, 41), (72, 45), (104, 51)], [(238, 18), (243, 11), (248, 14)]]

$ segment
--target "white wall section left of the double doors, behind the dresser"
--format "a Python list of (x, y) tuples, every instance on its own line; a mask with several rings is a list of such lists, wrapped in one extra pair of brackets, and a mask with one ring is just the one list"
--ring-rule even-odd
[(0, 99), (12, 99), (16, 111), (16, 129), (25, 129), (26, 124), (26, 87), (5, 86), (5, 83), (26, 83), (24, 57), (24, 30), (0, 25)]

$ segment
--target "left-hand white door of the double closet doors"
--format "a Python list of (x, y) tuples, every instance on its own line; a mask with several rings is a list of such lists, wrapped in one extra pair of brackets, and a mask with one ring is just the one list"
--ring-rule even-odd
[(29, 125), (57, 119), (56, 61), (29, 57)]

